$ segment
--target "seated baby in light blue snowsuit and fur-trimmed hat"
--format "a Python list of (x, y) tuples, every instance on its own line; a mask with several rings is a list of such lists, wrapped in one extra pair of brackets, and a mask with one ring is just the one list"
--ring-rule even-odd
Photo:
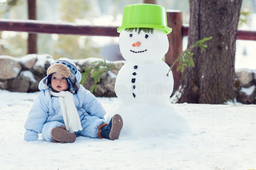
[(68, 58), (53, 62), (39, 83), (41, 91), (24, 125), (26, 141), (37, 140), (41, 133), (44, 140), (56, 143), (73, 143), (77, 136), (118, 139), (123, 127), (121, 116), (115, 114), (107, 123), (100, 102), (79, 84), (81, 77)]

